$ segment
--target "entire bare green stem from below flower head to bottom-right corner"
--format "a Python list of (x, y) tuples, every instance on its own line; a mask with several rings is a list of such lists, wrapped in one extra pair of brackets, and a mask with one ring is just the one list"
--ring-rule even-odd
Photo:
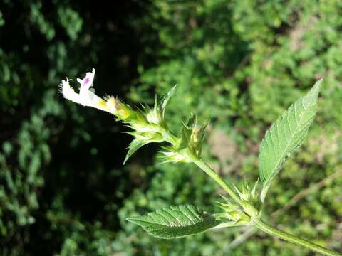
[[(208, 166), (202, 159), (194, 159), (194, 164), (196, 164), (200, 169), (202, 169), (206, 174), (208, 174), (214, 181), (216, 181), (219, 186), (221, 186), (224, 191), (226, 191), (229, 196), (232, 197), (232, 199), (239, 203), (242, 208), (244, 208), (245, 212), (249, 214), (249, 210), (254, 207), (250, 205), (249, 203), (242, 201), (237, 193), (235, 193), (234, 189), (231, 188), (210, 166)], [(253, 213), (253, 211), (252, 211)], [(342, 256), (342, 254), (339, 254), (338, 252), (333, 252), (331, 250), (328, 250), (324, 247), (321, 247), (320, 245), (316, 245), (314, 242), (310, 242), (308, 240), (304, 240), (301, 238), (296, 237), (295, 235), (291, 235), (289, 233), (285, 233), (281, 230), (277, 230), (276, 228), (272, 228), (271, 226), (264, 223), (262, 220), (259, 220), (259, 218), (253, 217), (252, 220), (254, 223), (254, 226), (259, 228), (259, 230), (264, 231), (265, 233), (269, 235), (273, 235), (277, 238), (281, 238), (283, 240), (286, 240), (288, 242), (292, 242), (295, 245), (301, 245), (303, 247), (308, 248), (309, 250), (313, 250), (314, 252), (320, 252), (323, 255), (332, 255), (332, 256)]]

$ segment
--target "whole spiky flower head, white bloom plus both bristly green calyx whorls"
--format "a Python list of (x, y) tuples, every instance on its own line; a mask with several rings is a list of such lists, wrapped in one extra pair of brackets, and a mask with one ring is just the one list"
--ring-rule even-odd
[(157, 102), (156, 98), (153, 107), (142, 106), (141, 110), (133, 110), (132, 107), (116, 97), (103, 98), (95, 95), (94, 78), (95, 69), (86, 73), (85, 78), (77, 78), (77, 82), (80, 84), (78, 93), (73, 90), (69, 84), (70, 80), (66, 78), (61, 82), (61, 93), (66, 99), (83, 106), (95, 107), (98, 110), (114, 114), (119, 121), (128, 124), (128, 127), (133, 129), (133, 132), (128, 132), (134, 139), (128, 146), (125, 161), (141, 146), (152, 142), (169, 142), (171, 144), (162, 147), (164, 149), (162, 152), (163, 162), (190, 162), (199, 157), (207, 124), (199, 126), (196, 117), (192, 115), (187, 124), (183, 123), (182, 136), (177, 137), (170, 132), (165, 122), (165, 108), (174, 95), (176, 86), (172, 87), (160, 99), (160, 102)]

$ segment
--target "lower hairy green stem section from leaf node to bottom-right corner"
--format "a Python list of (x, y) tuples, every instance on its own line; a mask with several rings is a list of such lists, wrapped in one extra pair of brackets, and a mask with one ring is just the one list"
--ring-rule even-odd
[(291, 235), (289, 233), (285, 233), (284, 231), (277, 230), (276, 228), (272, 228), (271, 226), (267, 225), (261, 220), (255, 219), (254, 225), (260, 230), (264, 231), (264, 233), (294, 243), (295, 245), (301, 245), (303, 247), (306, 247), (307, 249), (313, 250), (314, 252), (319, 252), (322, 255), (341, 256), (340, 253), (333, 252), (331, 250), (326, 249), (325, 247), (316, 245), (314, 242), (310, 242), (308, 240), (298, 238), (295, 235)]

